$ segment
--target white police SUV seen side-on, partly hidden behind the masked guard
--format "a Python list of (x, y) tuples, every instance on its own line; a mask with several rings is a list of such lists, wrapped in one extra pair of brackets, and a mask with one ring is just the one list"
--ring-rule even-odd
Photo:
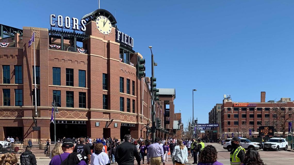
[[(227, 149), (228, 151), (232, 151), (232, 145), (231, 145), (231, 139), (228, 138), (223, 142), (223, 149)], [(258, 142), (251, 142), (250, 140), (246, 138), (240, 138), (240, 146), (243, 147), (244, 149), (250, 149), (250, 148), (255, 148), (255, 149), (260, 149), (261, 145)]]

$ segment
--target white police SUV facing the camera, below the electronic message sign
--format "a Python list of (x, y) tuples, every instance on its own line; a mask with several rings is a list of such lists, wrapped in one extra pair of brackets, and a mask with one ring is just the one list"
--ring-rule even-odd
[(284, 138), (274, 137), (263, 144), (263, 151), (279, 151), (280, 149), (284, 149), (285, 151), (288, 149), (288, 142)]

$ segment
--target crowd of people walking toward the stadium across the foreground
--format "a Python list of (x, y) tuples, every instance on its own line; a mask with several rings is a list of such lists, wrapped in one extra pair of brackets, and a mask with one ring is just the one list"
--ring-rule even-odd
[[(48, 141), (47, 141), (48, 142)], [(233, 151), (230, 153), (231, 165), (265, 165), (256, 149), (245, 152), (240, 146), (240, 139), (232, 139)], [(108, 154), (107, 154), (108, 153)], [(169, 156), (170, 153), (170, 156)], [(62, 138), (55, 144), (50, 153), (49, 165), (133, 165), (137, 164), (165, 165), (172, 161), (174, 165), (188, 163), (188, 157), (193, 157), (193, 164), (223, 165), (218, 162), (218, 152), (212, 145), (205, 146), (201, 139), (160, 139), (154, 143), (143, 138), (134, 139), (126, 134), (120, 141), (115, 137), (97, 138)], [(170, 159), (170, 160), (169, 160)], [(0, 165), (15, 165), (17, 157), (14, 153), (6, 153), (0, 157)], [(28, 145), (20, 156), (21, 165), (37, 165), (36, 157)]]

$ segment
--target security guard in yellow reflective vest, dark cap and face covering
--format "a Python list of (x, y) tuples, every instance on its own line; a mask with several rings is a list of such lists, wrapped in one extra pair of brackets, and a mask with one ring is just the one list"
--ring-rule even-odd
[(245, 159), (245, 149), (240, 146), (241, 140), (238, 137), (231, 139), (231, 145), (233, 147), (230, 153), (231, 165), (242, 165)]

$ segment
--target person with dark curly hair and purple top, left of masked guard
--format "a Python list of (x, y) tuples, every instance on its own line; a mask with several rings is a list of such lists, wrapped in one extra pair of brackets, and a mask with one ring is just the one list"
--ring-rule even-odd
[(218, 162), (217, 159), (218, 152), (216, 148), (212, 145), (208, 145), (201, 151), (201, 154), (199, 154), (198, 165), (223, 165)]

